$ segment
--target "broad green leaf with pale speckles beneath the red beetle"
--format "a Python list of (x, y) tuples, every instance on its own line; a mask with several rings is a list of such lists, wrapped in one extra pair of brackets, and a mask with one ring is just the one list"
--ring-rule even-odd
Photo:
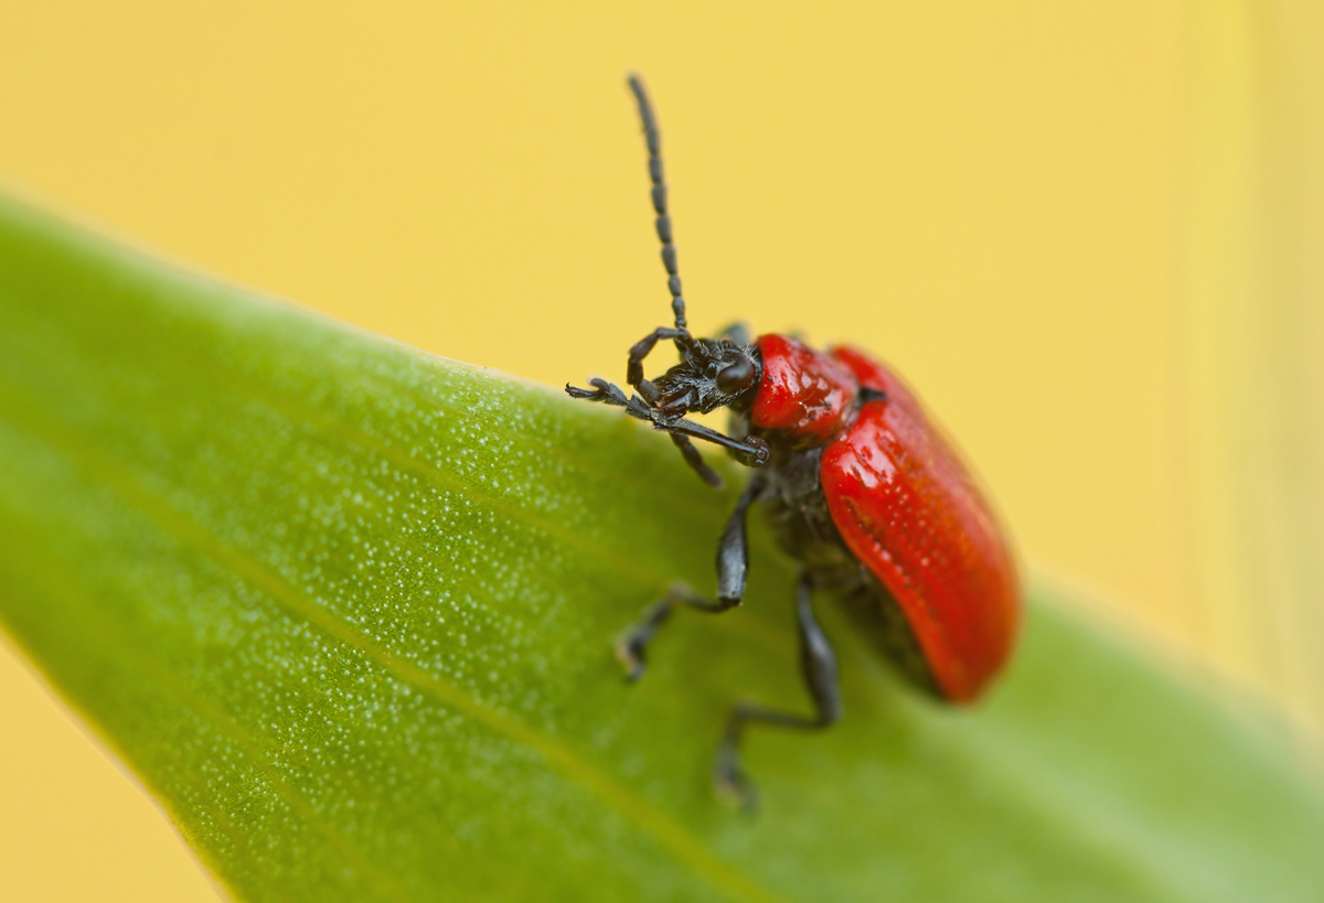
[[(510, 328), (508, 326), (503, 328)], [(730, 473), (730, 471), (728, 471)], [(1033, 605), (976, 711), (830, 606), (804, 707), (792, 572), (712, 581), (731, 493), (620, 412), (430, 357), (0, 204), (0, 616), (244, 900), (1296, 900), (1324, 801), (1266, 735)], [(77, 851), (71, 851), (77, 857)]]

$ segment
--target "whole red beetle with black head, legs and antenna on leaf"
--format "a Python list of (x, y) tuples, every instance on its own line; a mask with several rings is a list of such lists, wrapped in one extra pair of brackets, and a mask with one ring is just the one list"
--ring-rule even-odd
[[(661, 136), (638, 77), (629, 79), (649, 150), (653, 207), (669, 274), (674, 327), (658, 327), (632, 350), (626, 397), (593, 379), (567, 385), (576, 399), (620, 405), (670, 433), (686, 462), (714, 487), (722, 481), (691, 440), (724, 446), (755, 467), (718, 546), (718, 597), (675, 584), (617, 647), (630, 679), (677, 604), (724, 612), (740, 604), (749, 568), (745, 512), (759, 503), (779, 543), (801, 564), (796, 592), (801, 663), (814, 715), (739, 703), (714, 763), (720, 789), (747, 808), (753, 788), (740, 768), (743, 728), (761, 722), (822, 728), (841, 718), (837, 659), (814, 621), (812, 593), (834, 591), (858, 629), (912, 683), (939, 699), (969, 703), (1006, 662), (1021, 620), (1016, 567), (1006, 538), (960, 457), (925, 417), (911, 391), (883, 364), (853, 348), (817, 351), (785, 335), (749, 342), (743, 327), (696, 339), (685, 322)], [(681, 363), (655, 380), (643, 359), (659, 340)], [(690, 412), (732, 412), (731, 434), (686, 420)]]

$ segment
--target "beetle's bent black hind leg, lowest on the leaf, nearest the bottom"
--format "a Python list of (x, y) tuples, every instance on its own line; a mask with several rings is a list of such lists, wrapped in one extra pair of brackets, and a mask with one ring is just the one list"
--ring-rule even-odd
[(800, 667), (809, 687), (814, 714), (793, 715), (749, 703), (736, 703), (712, 761), (712, 780), (723, 793), (733, 794), (745, 812), (753, 812), (759, 796), (740, 767), (740, 737), (745, 724), (757, 722), (797, 731), (817, 731), (841, 719), (841, 687), (837, 682), (837, 655), (814, 621), (813, 583), (801, 577), (796, 585), (796, 620), (800, 625)]

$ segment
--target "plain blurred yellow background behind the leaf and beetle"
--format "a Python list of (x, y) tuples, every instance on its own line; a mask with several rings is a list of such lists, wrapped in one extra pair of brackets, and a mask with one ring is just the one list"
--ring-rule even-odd
[[(326, 7), (0, 0), (0, 177), (437, 354), (620, 376), (669, 316), (637, 68), (691, 324), (894, 363), (1041, 585), (1317, 748), (1324, 3)], [(7, 645), (0, 724), (0, 898), (214, 899)]]

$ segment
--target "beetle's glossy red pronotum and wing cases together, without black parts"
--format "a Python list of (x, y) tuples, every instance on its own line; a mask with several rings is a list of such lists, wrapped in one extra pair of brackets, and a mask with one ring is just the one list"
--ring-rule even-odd
[[(846, 546), (900, 606), (943, 696), (977, 699), (1019, 625), (1016, 568), (978, 486), (883, 364), (782, 335), (756, 346), (751, 425), (796, 448), (825, 446), (820, 479)], [(882, 397), (857, 404), (861, 387)]]

